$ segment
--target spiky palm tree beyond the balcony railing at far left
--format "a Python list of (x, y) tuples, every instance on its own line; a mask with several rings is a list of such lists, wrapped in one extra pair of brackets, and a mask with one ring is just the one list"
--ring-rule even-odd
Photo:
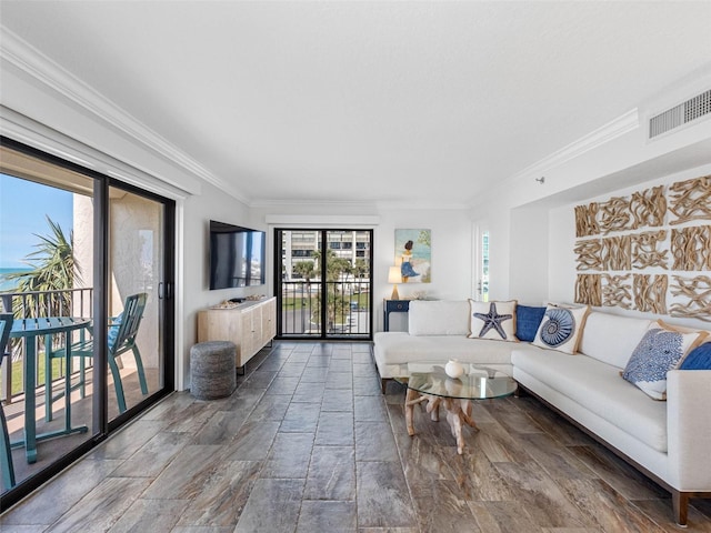
[[(46, 215), (47, 217), (47, 215)], [(68, 291), (74, 286), (74, 281), (81, 281), (79, 264), (74, 261), (73, 231), (69, 239), (59, 224), (47, 217), (50, 228), (48, 235), (38, 235), (40, 242), (37, 249), (24, 258), (24, 263), (32, 266), (29, 272), (8, 274), (8, 280), (18, 280), (19, 292), (37, 292), (29, 294), (27, 309), (17, 309), (16, 316), (37, 318), (40, 310), (49, 315), (67, 314), (71, 311), (71, 294), (69, 292), (50, 293), (49, 291)]]

